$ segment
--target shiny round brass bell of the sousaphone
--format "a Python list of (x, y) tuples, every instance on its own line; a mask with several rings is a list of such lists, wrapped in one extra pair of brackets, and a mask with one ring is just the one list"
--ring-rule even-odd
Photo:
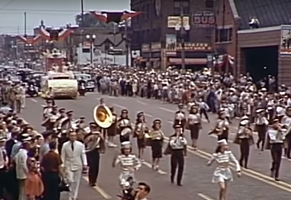
[(107, 106), (98, 105), (94, 108), (93, 112), (95, 122), (101, 128), (108, 128), (113, 122), (112, 112)]

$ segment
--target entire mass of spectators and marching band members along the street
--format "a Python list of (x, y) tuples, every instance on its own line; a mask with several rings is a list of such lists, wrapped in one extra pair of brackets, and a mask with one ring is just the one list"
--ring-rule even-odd
[[(226, 199), (228, 184), (233, 179), (230, 162), (235, 163), (240, 177), (241, 168), (248, 168), (250, 146), (254, 143), (262, 151), (270, 149), (270, 176), (277, 181), (283, 150), (284, 156), (290, 158), (291, 95), (284, 85), (276, 90), (270, 82), (254, 85), (249, 74), (241, 75), (235, 82), (231, 74), (181, 74), (173, 69), (157, 72), (105, 68), (96, 72), (96, 80), (98, 91), (103, 94), (141, 96), (178, 104), (173, 116), (174, 133), (169, 137), (166, 149), (163, 150), (165, 135), (160, 119), (155, 119), (150, 127), (144, 113), (139, 112), (133, 126), (127, 109), (118, 116), (114, 107), (107, 107), (104, 99), (98, 106), (106, 107), (112, 113), (112, 123), (106, 128), (98, 121), (87, 124), (82, 116), (75, 119), (73, 110), (59, 108), (54, 99), (47, 99), (42, 123), (45, 131), (39, 134), (18, 117), (20, 111), (14, 107), (15, 101), (11, 102), (7, 97), (0, 109), (0, 199), (8, 196), (20, 200), (58, 200), (61, 191), (67, 191), (70, 200), (77, 199), (81, 177), (87, 168), (89, 185), (96, 186), (100, 154), (105, 153), (106, 146), (117, 147), (114, 140), (117, 135), (121, 151), (113, 158), (112, 166), (120, 165), (122, 190), (127, 187), (128, 178), (135, 180), (134, 175), (144, 162), (146, 146), (152, 150), (154, 171), (159, 171), (163, 155), (170, 155), (170, 181), (182, 186), (184, 156), (189, 143), (185, 130), (190, 131), (190, 145), (197, 150), (199, 132), (204, 128), (202, 115), (209, 121), (208, 112), (218, 114), (216, 125), (208, 132), (217, 135), (217, 149), (207, 165), (217, 163), (212, 182), (219, 186), (219, 200)], [(21, 95), (18, 99), (21, 100)], [(241, 151), (239, 160), (228, 149), (230, 124), (235, 117), (240, 118), (235, 137)], [(253, 132), (258, 132), (257, 141), (254, 141)], [(131, 137), (136, 140), (137, 152), (133, 152)], [(135, 191), (137, 199), (146, 200), (150, 186), (140, 182)]]

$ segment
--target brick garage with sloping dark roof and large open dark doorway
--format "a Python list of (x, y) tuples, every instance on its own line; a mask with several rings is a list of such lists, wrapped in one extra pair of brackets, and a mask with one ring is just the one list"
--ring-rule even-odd
[[(249, 72), (259, 81), (271, 75), (291, 85), (290, 9), (290, 0), (219, 0), (215, 52), (235, 58), (236, 77)], [(250, 26), (251, 18), (257, 27)]]

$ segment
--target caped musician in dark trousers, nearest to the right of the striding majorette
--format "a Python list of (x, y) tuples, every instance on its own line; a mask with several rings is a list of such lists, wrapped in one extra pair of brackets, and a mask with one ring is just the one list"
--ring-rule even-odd
[(254, 144), (253, 132), (248, 120), (240, 122), (234, 143), (240, 145), (240, 166), (243, 166), (244, 161), (244, 167), (248, 168), (250, 146)]

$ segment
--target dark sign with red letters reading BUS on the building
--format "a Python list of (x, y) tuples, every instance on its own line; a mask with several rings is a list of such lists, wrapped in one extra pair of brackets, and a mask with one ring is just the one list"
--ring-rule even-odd
[(215, 13), (210, 11), (199, 11), (193, 15), (193, 26), (196, 28), (215, 27)]

